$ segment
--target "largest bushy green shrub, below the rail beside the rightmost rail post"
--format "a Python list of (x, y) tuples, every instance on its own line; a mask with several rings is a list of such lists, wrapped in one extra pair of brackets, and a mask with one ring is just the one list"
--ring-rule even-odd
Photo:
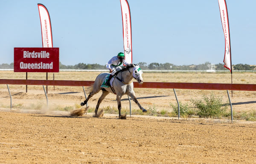
[(198, 108), (199, 117), (221, 117), (226, 115), (227, 106), (223, 107), (222, 99), (211, 94), (209, 97), (203, 96), (203, 99), (191, 100)]

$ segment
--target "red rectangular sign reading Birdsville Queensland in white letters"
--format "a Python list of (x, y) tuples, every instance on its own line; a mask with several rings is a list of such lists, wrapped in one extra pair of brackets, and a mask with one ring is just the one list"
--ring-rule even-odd
[(14, 48), (14, 72), (59, 72), (59, 48)]

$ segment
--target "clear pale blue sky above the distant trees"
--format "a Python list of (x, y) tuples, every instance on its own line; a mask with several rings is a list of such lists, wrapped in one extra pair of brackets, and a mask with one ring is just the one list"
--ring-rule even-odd
[[(232, 64), (256, 65), (256, 0), (226, 0)], [(128, 0), (133, 62), (223, 63), (218, 0)], [(119, 0), (0, 0), (0, 64), (14, 47), (42, 47), (37, 3), (47, 7), (60, 62), (105, 64), (123, 51)]]

